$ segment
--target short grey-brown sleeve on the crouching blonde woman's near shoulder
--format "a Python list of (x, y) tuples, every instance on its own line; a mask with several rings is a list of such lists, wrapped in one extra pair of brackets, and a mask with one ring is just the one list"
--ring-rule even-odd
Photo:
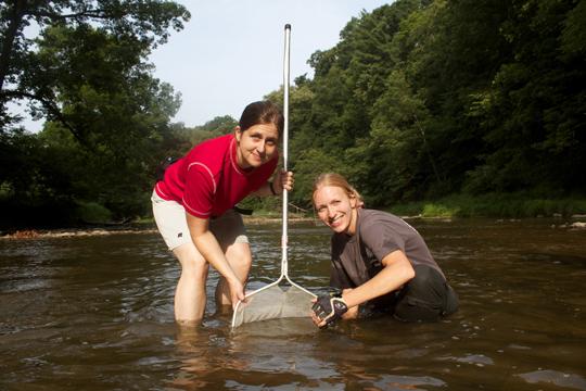
[(368, 223), (362, 223), (360, 240), (380, 262), (393, 251), (402, 250), (405, 252), (405, 240), (388, 224), (377, 217)]

